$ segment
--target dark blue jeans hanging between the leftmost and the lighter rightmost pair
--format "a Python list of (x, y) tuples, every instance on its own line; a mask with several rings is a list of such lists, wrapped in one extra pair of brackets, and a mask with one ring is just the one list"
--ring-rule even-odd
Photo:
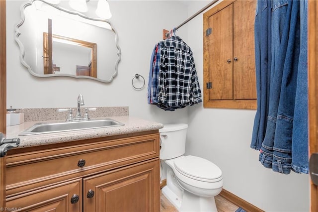
[[(272, 66), (269, 114), (259, 160), (289, 174), (300, 51), (299, 1), (272, 0)], [(273, 48), (273, 46), (275, 48)]]

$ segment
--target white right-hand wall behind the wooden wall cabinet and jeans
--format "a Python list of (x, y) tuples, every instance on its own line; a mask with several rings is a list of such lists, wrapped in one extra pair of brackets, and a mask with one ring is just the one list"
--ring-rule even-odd
[[(189, 15), (206, 4), (190, 4)], [(201, 85), (202, 20), (203, 14), (187, 24), (186, 41), (193, 50)], [(224, 189), (266, 212), (308, 212), (309, 175), (284, 175), (266, 169), (258, 161), (259, 152), (249, 147), (255, 111), (190, 108), (186, 153), (213, 161), (223, 172)]]

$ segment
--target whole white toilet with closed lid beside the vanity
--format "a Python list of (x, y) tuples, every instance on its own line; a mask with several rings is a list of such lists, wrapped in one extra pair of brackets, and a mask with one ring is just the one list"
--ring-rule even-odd
[(214, 197), (222, 191), (222, 171), (206, 159), (183, 155), (187, 128), (164, 124), (159, 129), (160, 160), (167, 164), (161, 170), (167, 182), (161, 191), (180, 212), (217, 212)]

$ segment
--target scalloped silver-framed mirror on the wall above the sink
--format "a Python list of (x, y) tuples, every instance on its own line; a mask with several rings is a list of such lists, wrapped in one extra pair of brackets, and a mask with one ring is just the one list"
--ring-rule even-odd
[[(87, 1), (87, 7), (94, 13), (97, 0)], [(120, 61), (116, 30), (108, 20), (87, 14), (68, 8), (68, 1), (23, 4), (21, 21), (15, 28), (21, 63), (37, 77), (111, 82)]]

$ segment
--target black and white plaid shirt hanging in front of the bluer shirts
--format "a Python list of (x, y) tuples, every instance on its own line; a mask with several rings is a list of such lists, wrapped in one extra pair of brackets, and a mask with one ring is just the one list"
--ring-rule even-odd
[(159, 107), (166, 110), (202, 102), (191, 48), (178, 36), (160, 42)]

